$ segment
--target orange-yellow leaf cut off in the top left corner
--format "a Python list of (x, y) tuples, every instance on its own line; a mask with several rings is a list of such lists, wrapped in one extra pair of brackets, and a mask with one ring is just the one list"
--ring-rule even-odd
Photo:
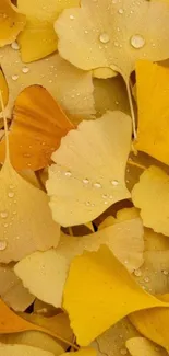
[(26, 16), (17, 11), (10, 0), (0, 3), (0, 47), (11, 44), (24, 28)]

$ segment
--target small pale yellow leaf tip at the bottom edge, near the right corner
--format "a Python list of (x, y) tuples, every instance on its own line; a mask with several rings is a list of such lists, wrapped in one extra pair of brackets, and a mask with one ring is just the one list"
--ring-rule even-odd
[(157, 347), (156, 344), (145, 337), (132, 337), (126, 341), (126, 348), (132, 356), (167, 356), (168, 353)]

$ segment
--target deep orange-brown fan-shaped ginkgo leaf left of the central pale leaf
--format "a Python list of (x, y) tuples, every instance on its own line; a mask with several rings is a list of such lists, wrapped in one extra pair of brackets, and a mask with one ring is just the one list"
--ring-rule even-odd
[[(39, 85), (26, 88), (17, 96), (9, 133), (11, 163), (16, 170), (34, 171), (50, 162), (60, 140), (74, 126), (61, 107)], [(4, 161), (5, 140), (0, 142), (0, 161)]]

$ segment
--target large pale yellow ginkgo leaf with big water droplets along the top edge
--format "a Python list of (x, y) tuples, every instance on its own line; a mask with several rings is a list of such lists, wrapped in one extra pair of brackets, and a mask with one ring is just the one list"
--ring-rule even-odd
[(165, 1), (82, 0), (80, 9), (63, 11), (55, 28), (61, 56), (84, 70), (107, 67), (128, 80), (137, 59), (169, 57)]

